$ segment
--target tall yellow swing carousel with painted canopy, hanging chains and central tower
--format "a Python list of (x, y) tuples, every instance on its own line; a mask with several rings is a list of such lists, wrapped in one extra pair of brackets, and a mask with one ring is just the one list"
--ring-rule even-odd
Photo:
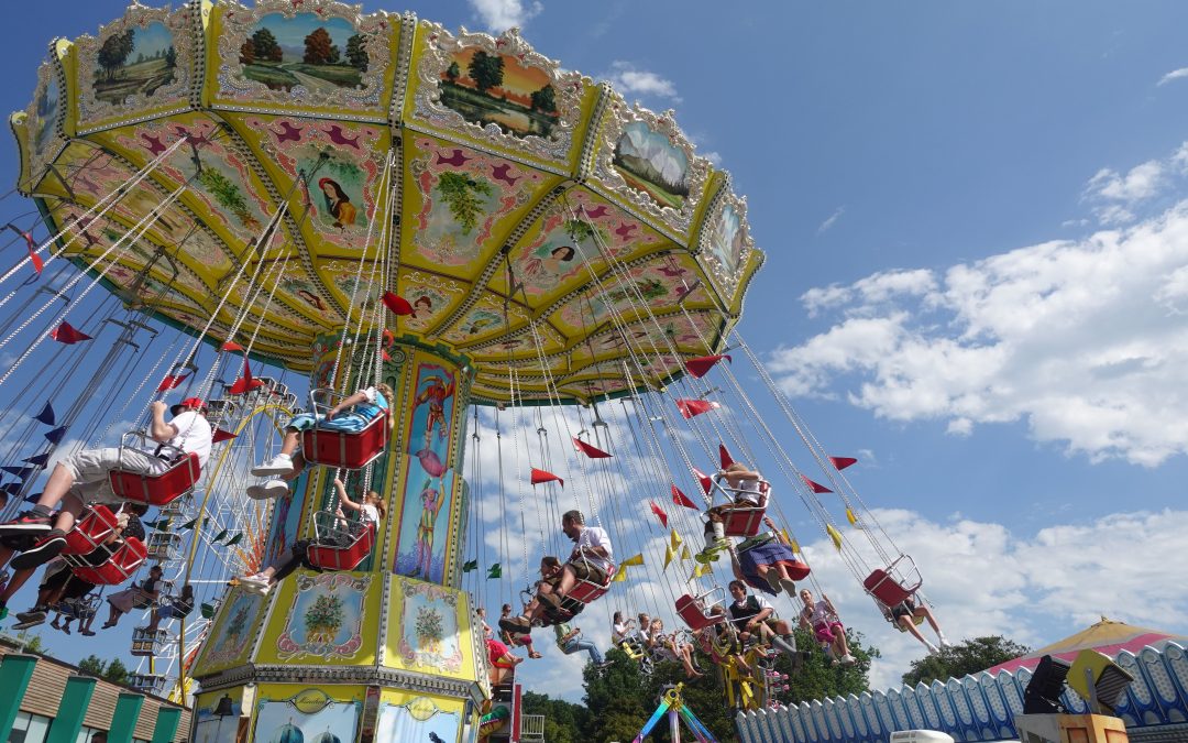
[[(729, 560), (693, 553), (700, 511), (728, 496), (702, 472), (732, 452), (769, 484), (727, 537), (764, 516), (786, 527), (795, 497), (877, 600), (918, 590), (842, 476), (853, 460), (826, 454), (738, 334), (763, 254), (727, 174), (671, 112), (514, 30), (328, 0), (135, 4), (56, 39), (11, 124), (36, 213), (10, 223), (27, 256), (0, 275), (19, 443), (4, 515), (59, 447), (109, 443), (153, 399), (209, 401), (202, 472), (116, 487), (151, 505), (150, 529), (106, 581), (166, 562), (166, 594), (194, 587), (201, 611), (134, 649), (146, 688), (195, 694), (200, 729), (229, 697), (258, 739), (293, 724), (456, 739), (491, 695), (475, 602), (514, 604), (541, 554), (568, 554), (571, 509), (618, 565), (580, 581), (569, 615), (646, 607), (713, 629)], [(291, 414), (377, 383), (390, 414), (307, 434), (321, 466), (248, 497)], [(803, 472), (767, 417), (798, 434)], [(339, 476), (387, 509), (331, 542)], [(226, 587), (296, 537), (322, 572)], [(764, 704), (766, 679), (722, 661), (732, 700)]]

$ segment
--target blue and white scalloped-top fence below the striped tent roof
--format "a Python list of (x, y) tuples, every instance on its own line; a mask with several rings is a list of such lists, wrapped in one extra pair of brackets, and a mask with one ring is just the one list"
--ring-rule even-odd
[[(1168, 641), (1137, 654), (1124, 650), (1114, 662), (1135, 676), (1114, 710), (1131, 735), (1135, 730), (1155, 733), (1164, 725), (1182, 732), (1188, 720), (1184, 644)], [(1030, 681), (1026, 668), (997, 675), (982, 672), (931, 685), (740, 712), (734, 722), (742, 743), (885, 743), (895, 731), (915, 729), (947, 732), (955, 741), (1017, 739), (1013, 720), (1023, 712), (1023, 692)], [(1073, 714), (1089, 711), (1068, 690), (1061, 703)]]

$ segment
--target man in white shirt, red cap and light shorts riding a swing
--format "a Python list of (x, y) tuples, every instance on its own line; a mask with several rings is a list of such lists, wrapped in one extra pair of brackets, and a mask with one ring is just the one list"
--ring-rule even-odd
[[(33, 544), (12, 560), (17, 569), (33, 568), (56, 558), (65, 548), (65, 535), (74, 529), (83, 505), (95, 500), (114, 502), (108, 472), (120, 467), (131, 472), (157, 476), (169, 470), (178, 458), (197, 454), (198, 466), (210, 458), (214, 432), (206, 418), (207, 404), (188, 397), (170, 408), (172, 420), (165, 421), (165, 403), (152, 404), (148, 437), (158, 445), (154, 454), (118, 447), (83, 449), (64, 458), (53, 468), (37, 505), (19, 517), (0, 523), (0, 536), (37, 537)], [(53, 508), (62, 509), (53, 516)], [(2, 566), (0, 566), (2, 567)]]

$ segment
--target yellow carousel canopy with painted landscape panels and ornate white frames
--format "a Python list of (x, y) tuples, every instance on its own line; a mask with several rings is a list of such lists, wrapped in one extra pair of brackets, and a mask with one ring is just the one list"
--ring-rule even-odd
[(762, 254), (672, 113), (514, 31), (326, 0), (133, 5), (55, 42), (12, 117), (55, 248), (184, 326), (309, 370), (385, 291), (475, 395), (587, 399), (719, 350)]

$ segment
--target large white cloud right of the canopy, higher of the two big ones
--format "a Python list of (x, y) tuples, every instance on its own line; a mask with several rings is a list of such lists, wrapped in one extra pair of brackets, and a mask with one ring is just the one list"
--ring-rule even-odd
[(876, 273), (805, 292), (834, 325), (772, 357), (794, 395), (848, 399), (958, 435), (1023, 420), (1038, 441), (1155, 466), (1188, 452), (1188, 201), (1121, 231), (1018, 248), (943, 275)]

